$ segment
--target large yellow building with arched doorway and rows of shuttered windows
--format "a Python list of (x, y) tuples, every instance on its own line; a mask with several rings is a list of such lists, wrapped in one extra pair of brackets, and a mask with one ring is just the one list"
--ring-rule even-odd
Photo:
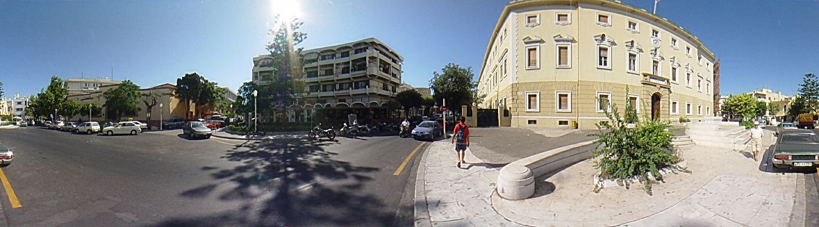
[(641, 118), (699, 120), (713, 115), (714, 61), (695, 35), (619, 1), (512, 1), (478, 92), (500, 126), (595, 129), (608, 103), (622, 111), (627, 98)]

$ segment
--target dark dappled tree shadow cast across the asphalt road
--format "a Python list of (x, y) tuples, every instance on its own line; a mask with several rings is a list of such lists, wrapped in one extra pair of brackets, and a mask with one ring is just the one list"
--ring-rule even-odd
[[(333, 141), (279, 139), (243, 144), (221, 157), (233, 168), (203, 166), (211, 183), (180, 197), (217, 197), (243, 207), (207, 216), (179, 216), (150, 226), (389, 226), (394, 211), (372, 194), (358, 193), (378, 168), (351, 166), (328, 151)], [(247, 150), (249, 149), (249, 150)], [(229, 182), (224, 182), (227, 179)], [(333, 185), (332, 187), (330, 185)], [(228, 190), (218, 188), (229, 187)]]

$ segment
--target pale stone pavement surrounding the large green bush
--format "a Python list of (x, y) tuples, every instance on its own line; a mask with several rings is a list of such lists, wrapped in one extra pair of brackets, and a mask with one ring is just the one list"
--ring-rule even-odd
[(641, 184), (592, 193), (593, 161), (581, 161), (537, 178), (534, 197), (507, 201), (493, 195), (500, 166), (482, 164), (467, 152), (470, 164), (459, 170), (453, 146), (432, 143), (419, 166), (415, 225), (804, 225), (801, 174), (714, 148), (689, 147), (685, 157), (692, 173), (666, 175), (666, 183), (654, 185), (653, 196)]

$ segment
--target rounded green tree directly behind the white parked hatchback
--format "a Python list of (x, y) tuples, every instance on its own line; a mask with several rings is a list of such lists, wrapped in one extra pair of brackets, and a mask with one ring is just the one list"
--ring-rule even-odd
[(131, 80), (122, 81), (115, 89), (102, 93), (102, 97), (106, 99), (104, 104), (106, 111), (114, 115), (113, 120), (122, 119), (125, 113), (139, 111), (139, 86), (133, 84)]

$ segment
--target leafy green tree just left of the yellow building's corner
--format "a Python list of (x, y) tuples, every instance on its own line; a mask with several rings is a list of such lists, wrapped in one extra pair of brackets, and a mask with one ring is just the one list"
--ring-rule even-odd
[(446, 106), (454, 110), (472, 104), (473, 89), (477, 87), (477, 83), (472, 82), (473, 77), (472, 67), (462, 68), (455, 63), (446, 64), (441, 69), (441, 74), (432, 72), (432, 79), (429, 80), (429, 86), (435, 93), (432, 97), (439, 104), (444, 104), (443, 99), (446, 98)]

